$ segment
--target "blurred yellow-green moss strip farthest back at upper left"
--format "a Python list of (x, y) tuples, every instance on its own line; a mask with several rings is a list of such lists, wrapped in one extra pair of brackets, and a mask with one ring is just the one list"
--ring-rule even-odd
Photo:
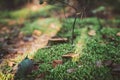
[(55, 9), (56, 8), (51, 5), (41, 7), (37, 11), (32, 11), (29, 8), (22, 8), (19, 10), (11, 11), (10, 17), (13, 19), (46, 17), (46, 16), (50, 16), (50, 12)]

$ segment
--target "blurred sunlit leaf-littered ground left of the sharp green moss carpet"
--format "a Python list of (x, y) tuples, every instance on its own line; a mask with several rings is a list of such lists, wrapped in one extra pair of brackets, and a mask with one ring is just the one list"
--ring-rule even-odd
[(53, 8), (49, 5), (30, 5), (3, 12), (5, 14), (0, 19), (0, 80), (7, 80), (7, 76), (3, 75), (9, 72), (7, 68), (4, 71), (6, 65), (13, 68), (27, 55), (33, 59), (34, 53), (47, 47), (49, 39), (60, 30), (58, 18), (50, 18), (48, 14), (48, 11), (52, 13)]

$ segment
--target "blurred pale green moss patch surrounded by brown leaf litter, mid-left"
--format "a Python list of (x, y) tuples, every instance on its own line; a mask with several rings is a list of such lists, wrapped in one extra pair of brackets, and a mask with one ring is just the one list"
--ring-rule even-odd
[[(51, 28), (51, 24), (55, 25), (55, 29)], [(51, 33), (61, 27), (61, 23), (57, 18), (46, 18), (42, 20), (35, 20), (34, 22), (26, 22), (21, 31), (25, 34), (32, 34), (34, 30), (40, 30), (43, 33)]]

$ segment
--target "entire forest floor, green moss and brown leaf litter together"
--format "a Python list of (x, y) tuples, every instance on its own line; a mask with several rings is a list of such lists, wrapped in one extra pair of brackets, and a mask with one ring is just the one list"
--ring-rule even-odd
[[(71, 44), (75, 19), (60, 10), (42, 5), (0, 12), (0, 80), (14, 80), (26, 56), (33, 68), (17, 80), (119, 80), (120, 19), (100, 19), (101, 28), (96, 17), (78, 18)], [(64, 61), (67, 53), (80, 58)]]

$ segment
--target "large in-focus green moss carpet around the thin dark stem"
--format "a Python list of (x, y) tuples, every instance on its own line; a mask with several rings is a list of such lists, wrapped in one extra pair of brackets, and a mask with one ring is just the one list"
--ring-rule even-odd
[[(70, 37), (70, 24), (72, 22), (73, 19), (69, 24), (64, 23), (63, 30), (58, 35)], [(81, 27), (78, 24), (83, 26)], [(70, 43), (66, 43), (40, 49), (34, 59), (38, 62), (43, 61), (43, 63), (39, 64), (39, 70), (35, 71), (36, 75), (45, 73), (45, 76), (42, 77), (43, 80), (119, 80), (118, 76), (112, 75), (111, 68), (105, 65), (97, 67), (96, 63), (105, 60), (120, 63), (120, 37), (116, 35), (120, 29), (110, 26), (104, 26), (100, 31), (98, 29), (99, 24), (95, 18), (78, 20), (75, 29), (76, 39), (74, 40), (76, 46), (73, 47)], [(95, 30), (96, 35), (88, 35), (90, 30)], [(104, 38), (104, 35), (108, 37)], [(77, 45), (79, 43), (80, 45)], [(52, 61), (62, 59), (61, 56), (68, 52), (79, 53), (79, 61), (77, 63), (68, 61), (53, 68)], [(67, 70), (71, 68), (75, 71), (68, 73)]]

